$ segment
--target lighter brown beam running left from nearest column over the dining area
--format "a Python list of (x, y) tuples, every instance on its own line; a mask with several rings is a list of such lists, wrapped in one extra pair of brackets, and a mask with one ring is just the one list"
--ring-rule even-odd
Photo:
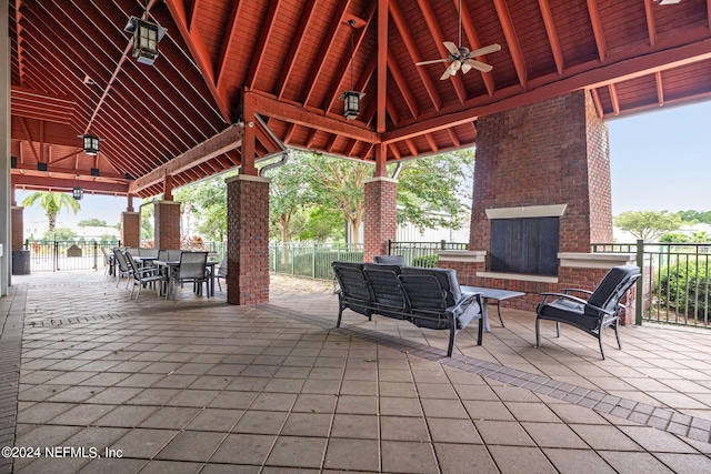
[(153, 171), (131, 182), (129, 186), (130, 192), (138, 193), (150, 185), (162, 182), (166, 174), (178, 174), (199, 163), (234, 150), (240, 147), (243, 138), (244, 130), (238, 125), (230, 125), (220, 133), (170, 160), (168, 163), (158, 167)]

